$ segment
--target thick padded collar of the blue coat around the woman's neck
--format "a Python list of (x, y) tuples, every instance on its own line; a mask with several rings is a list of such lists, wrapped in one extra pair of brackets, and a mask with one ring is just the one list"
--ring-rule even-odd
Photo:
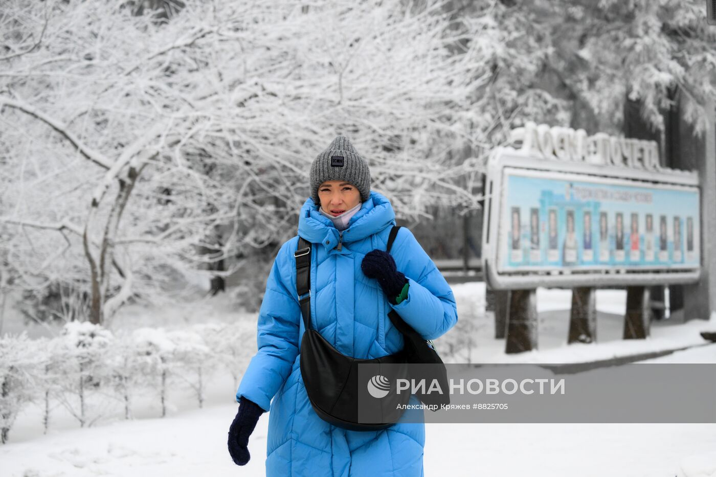
[[(299, 236), (312, 244), (323, 244), (326, 250), (338, 245), (338, 230), (331, 219), (323, 216), (313, 198), (308, 198), (301, 207), (299, 216)], [(395, 211), (390, 201), (376, 191), (370, 191), (367, 201), (362, 203), (359, 211), (351, 217), (348, 228), (343, 231), (342, 242), (348, 244), (361, 240), (388, 226), (395, 225)]]

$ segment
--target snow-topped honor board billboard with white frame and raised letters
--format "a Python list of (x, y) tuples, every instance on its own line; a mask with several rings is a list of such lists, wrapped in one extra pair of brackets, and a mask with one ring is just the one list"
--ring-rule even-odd
[[(513, 135), (522, 148), (498, 148), (490, 156), (483, 230), (490, 285), (695, 281), (701, 259), (697, 175), (659, 168), (655, 143), (582, 135), (577, 145), (575, 132), (566, 130), (570, 138), (563, 131), (529, 123)], [(621, 147), (611, 145), (614, 140)]]

